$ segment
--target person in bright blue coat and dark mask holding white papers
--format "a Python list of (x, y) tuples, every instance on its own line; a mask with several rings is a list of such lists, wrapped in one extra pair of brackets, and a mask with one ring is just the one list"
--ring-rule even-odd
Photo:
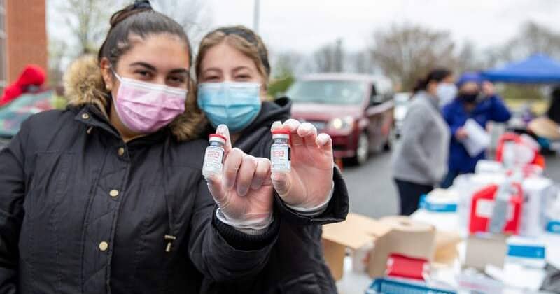
[(449, 144), (449, 172), (442, 188), (449, 188), (459, 174), (475, 172), (477, 162), (485, 158), (485, 152), (471, 157), (461, 143), (468, 137), (465, 122), (472, 118), (484, 129), (489, 121), (505, 123), (511, 113), (502, 99), (496, 95), (492, 83), (483, 81), (478, 73), (463, 73), (457, 81), (458, 96), (444, 106), (442, 113), (451, 130)]

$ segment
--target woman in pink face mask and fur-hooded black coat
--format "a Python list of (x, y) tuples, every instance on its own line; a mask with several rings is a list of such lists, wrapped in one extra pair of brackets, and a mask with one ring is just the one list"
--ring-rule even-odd
[[(265, 266), (279, 217), (235, 221), (272, 216), (272, 184), (209, 192), (190, 64), (183, 28), (137, 1), (69, 69), (69, 107), (23, 123), (0, 151), (0, 293), (197, 293)], [(252, 162), (226, 155), (234, 186), (267, 176)]]

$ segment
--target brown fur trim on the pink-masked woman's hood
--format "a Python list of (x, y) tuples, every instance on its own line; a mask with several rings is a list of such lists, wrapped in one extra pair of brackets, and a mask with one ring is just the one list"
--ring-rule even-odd
[[(191, 87), (185, 102), (185, 112), (169, 124), (172, 134), (179, 141), (195, 139), (207, 125), (204, 113), (197, 105), (196, 87), (193, 80), (190, 80), (189, 83), (191, 83)], [(108, 102), (110, 94), (105, 89), (97, 57), (84, 55), (69, 66), (64, 74), (64, 91), (69, 106), (93, 104), (109, 118), (107, 109), (110, 104)]]

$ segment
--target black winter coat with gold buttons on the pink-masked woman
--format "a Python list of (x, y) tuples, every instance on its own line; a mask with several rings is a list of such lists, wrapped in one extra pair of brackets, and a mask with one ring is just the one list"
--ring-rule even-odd
[(259, 272), (279, 221), (251, 236), (214, 217), (206, 146), (167, 128), (125, 144), (92, 105), (29, 118), (0, 151), (0, 293), (197, 293)]

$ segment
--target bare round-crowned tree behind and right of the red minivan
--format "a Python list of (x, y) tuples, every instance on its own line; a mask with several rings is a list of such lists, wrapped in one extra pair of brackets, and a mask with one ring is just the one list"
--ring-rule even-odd
[(374, 33), (370, 54), (386, 75), (411, 89), (433, 67), (454, 64), (454, 42), (445, 31), (393, 26)]

